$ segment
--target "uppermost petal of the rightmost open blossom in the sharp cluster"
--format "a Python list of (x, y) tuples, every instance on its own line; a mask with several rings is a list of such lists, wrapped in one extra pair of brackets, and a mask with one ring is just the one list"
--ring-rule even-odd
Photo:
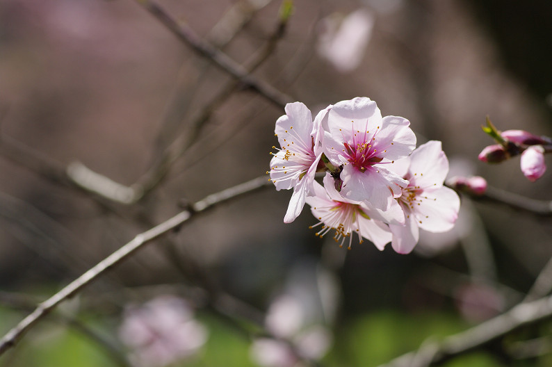
[(411, 185), (440, 187), (448, 174), (448, 159), (441, 149), (441, 142), (430, 140), (412, 152), (409, 180)]

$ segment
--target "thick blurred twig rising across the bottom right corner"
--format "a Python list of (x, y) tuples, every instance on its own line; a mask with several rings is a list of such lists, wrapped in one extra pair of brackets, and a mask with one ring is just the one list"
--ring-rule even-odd
[[(428, 343), (419, 350), (404, 354), (380, 367), (427, 367), (441, 364), (452, 357), (482, 348), (520, 327), (551, 316), (552, 296), (521, 303), (476, 327), (448, 336), (441, 342)], [(419, 358), (423, 360), (420, 364), (414, 364), (416, 356), (423, 356)]]

